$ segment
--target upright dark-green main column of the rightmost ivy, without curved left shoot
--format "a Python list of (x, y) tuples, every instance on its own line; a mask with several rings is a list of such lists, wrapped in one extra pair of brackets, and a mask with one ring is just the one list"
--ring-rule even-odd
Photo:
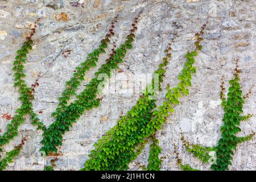
[(250, 117), (241, 115), (243, 113), (243, 104), (245, 100), (242, 98), (242, 90), (240, 87), (239, 73), (241, 70), (236, 67), (234, 70), (234, 78), (229, 81), (228, 98), (222, 98), (222, 106), (224, 107), (224, 117), (222, 121), (224, 125), (221, 127), (221, 139), (218, 140), (216, 147), (217, 160), (216, 164), (212, 164), (211, 169), (224, 171), (231, 165), (234, 150), (237, 144), (245, 142), (253, 138), (254, 134), (247, 137), (237, 137), (236, 134), (241, 131), (240, 122)]

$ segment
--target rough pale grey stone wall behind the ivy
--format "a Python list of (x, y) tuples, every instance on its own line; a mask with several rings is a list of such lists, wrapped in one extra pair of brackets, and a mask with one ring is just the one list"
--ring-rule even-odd
[[(15, 51), (24, 42), (29, 28), (36, 18), (41, 18), (34, 36), (35, 46), (25, 65), (28, 85), (34, 83), (41, 72), (47, 71), (40, 78), (36, 88), (34, 109), (40, 119), (48, 126), (53, 118), (51, 113), (57, 106), (57, 98), (64, 89), (74, 68), (85, 60), (87, 53), (99, 44), (105, 35), (113, 17), (119, 13), (115, 26), (117, 34), (113, 40), (119, 45), (129, 32), (130, 23), (138, 11), (144, 9), (138, 22), (137, 38), (134, 48), (127, 53), (125, 62), (120, 65), (122, 73), (116, 73), (115, 92), (104, 92), (102, 104), (97, 109), (85, 111), (71, 131), (65, 134), (61, 156), (56, 162), (56, 169), (80, 169), (96, 142), (107, 130), (113, 127), (119, 115), (131, 108), (141, 93), (140, 73), (153, 73), (161, 61), (163, 50), (177, 30), (178, 37), (173, 46), (172, 60), (168, 66), (164, 86), (174, 86), (180, 73), (184, 55), (193, 48), (193, 35), (200, 30), (209, 16), (205, 31), (203, 51), (196, 59), (197, 73), (192, 78), (190, 95), (181, 98), (163, 129), (158, 132), (160, 146), (163, 148), (163, 170), (179, 169), (175, 164), (173, 143), (179, 146), (180, 158), (192, 167), (207, 170), (209, 165), (201, 164), (182, 148), (180, 127), (185, 138), (193, 143), (214, 146), (220, 138), (222, 125), (222, 107), (219, 100), (220, 79), (225, 76), (226, 87), (232, 77), (234, 59), (240, 59), (242, 69), (241, 85), (246, 93), (255, 84), (255, 9), (254, 0), (17, 0), (0, 1), (0, 114), (14, 114), (20, 105), (18, 90), (13, 87), (13, 60)], [(64, 16), (64, 18), (61, 15)], [(66, 19), (67, 18), (67, 19)], [(64, 56), (62, 51), (71, 50)], [(61, 53), (60, 53), (61, 51)], [(59, 55), (56, 58), (57, 55)], [(101, 56), (98, 65), (104, 63), (106, 56)], [(99, 66), (97, 66), (98, 68)], [(86, 75), (86, 84), (97, 68)], [(121, 72), (121, 71), (119, 71)], [(135, 89), (127, 89), (126, 77), (135, 81)], [(118, 81), (119, 80), (119, 81)], [(143, 80), (143, 79), (142, 79)], [(113, 82), (114, 80), (110, 81)], [(81, 89), (84, 88), (81, 86)], [(80, 89), (80, 90), (81, 90)], [(79, 91), (80, 91), (79, 90)], [(129, 91), (129, 92), (128, 92)], [(163, 101), (164, 90), (160, 93), (158, 104)], [(256, 114), (256, 94), (247, 99), (245, 113)], [(42, 111), (39, 113), (39, 111)], [(255, 116), (241, 123), (240, 135), (256, 131)], [(9, 121), (0, 118), (3, 133)], [(42, 170), (52, 158), (44, 159), (39, 154), (42, 133), (36, 131), (27, 119), (19, 128), (19, 137), (3, 149), (9, 151), (24, 136), (30, 136), (22, 153), (10, 164), (9, 170)], [(0, 133), (0, 134), (1, 134)], [(147, 164), (148, 145), (139, 158), (130, 164), (131, 169), (142, 169)], [(240, 144), (235, 152), (233, 170), (256, 169), (256, 142)]]

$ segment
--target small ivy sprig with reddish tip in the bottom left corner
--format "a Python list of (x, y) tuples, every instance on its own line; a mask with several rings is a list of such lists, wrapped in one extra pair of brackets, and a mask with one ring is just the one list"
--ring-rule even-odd
[(0, 161), (0, 171), (5, 170), (8, 167), (8, 163), (13, 163), (14, 158), (19, 155), (25, 141), (26, 138), (23, 138), (18, 146), (15, 146), (10, 152), (6, 152), (5, 158)]

